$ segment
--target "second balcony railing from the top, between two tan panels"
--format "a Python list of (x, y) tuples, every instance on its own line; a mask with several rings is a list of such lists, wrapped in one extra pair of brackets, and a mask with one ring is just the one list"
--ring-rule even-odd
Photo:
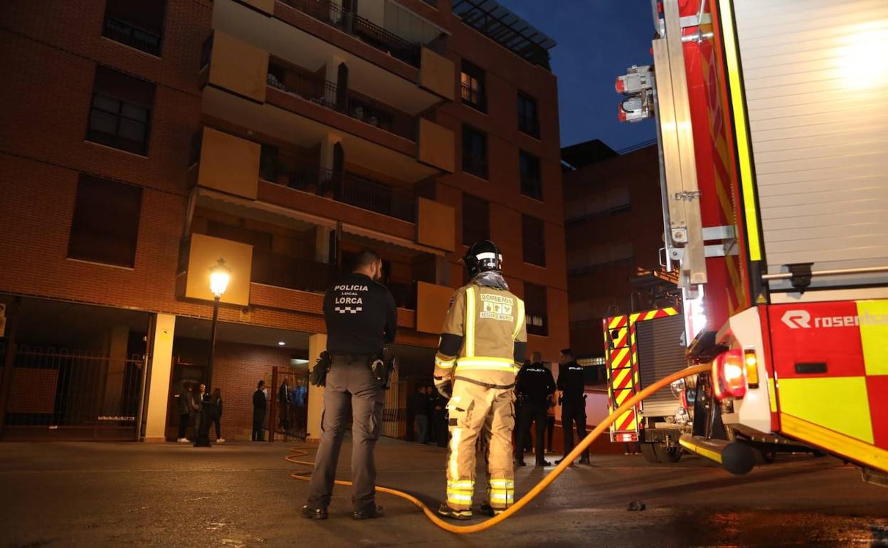
[(417, 121), (414, 116), (386, 107), (356, 91), (339, 88), (336, 83), (312, 73), (273, 61), (268, 67), (268, 85), (416, 141)]

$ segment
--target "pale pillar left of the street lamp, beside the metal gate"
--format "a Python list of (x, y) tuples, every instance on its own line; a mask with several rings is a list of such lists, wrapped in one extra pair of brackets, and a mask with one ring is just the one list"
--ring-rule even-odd
[(151, 347), (151, 385), (148, 386), (148, 409), (145, 441), (166, 440), (166, 415), (172, 376), (172, 339), (176, 316), (157, 314)]

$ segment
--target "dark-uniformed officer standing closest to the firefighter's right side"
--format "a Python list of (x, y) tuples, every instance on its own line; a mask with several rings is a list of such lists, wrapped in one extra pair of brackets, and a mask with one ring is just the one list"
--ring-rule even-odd
[(552, 373), (543, 365), (543, 355), (535, 352), (531, 357), (531, 364), (521, 368), (515, 382), (515, 393), (521, 400), (521, 412), (518, 417), (518, 436), (515, 446), (515, 465), (524, 466), (524, 439), (530, 434), (530, 422), (535, 423), (536, 435), (535, 451), (537, 466), (551, 466), (546, 460), (545, 440), (543, 434), (546, 427), (546, 408), (549, 396), (555, 393), (555, 379)]

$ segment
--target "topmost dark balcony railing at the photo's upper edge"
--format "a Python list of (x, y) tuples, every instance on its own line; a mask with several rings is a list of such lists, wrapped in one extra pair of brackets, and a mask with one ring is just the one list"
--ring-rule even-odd
[(377, 50), (388, 53), (408, 65), (419, 67), (421, 57), (420, 46), (392, 34), (375, 23), (364, 19), (355, 12), (345, 10), (341, 5), (329, 0), (283, 0), (300, 12), (310, 15), (316, 20), (338, 28), (352, 35)]

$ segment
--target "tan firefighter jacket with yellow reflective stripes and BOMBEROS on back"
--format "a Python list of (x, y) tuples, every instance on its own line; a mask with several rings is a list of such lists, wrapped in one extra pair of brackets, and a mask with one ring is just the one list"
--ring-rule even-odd
[(435, 385), (461, 379), (511, 388), (527, 353), (524, 301), (504, 287), (477, 282), (451, 298), (435, 355)]

